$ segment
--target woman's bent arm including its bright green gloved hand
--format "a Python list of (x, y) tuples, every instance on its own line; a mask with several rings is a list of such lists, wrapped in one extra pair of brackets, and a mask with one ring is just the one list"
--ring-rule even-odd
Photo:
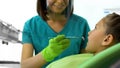
[(24, 44), (21, 68), (40, 68), (60, 55), (69, 45), (69, 39), (65, 38), (64, 35), (58, 35), (57, 37), (49, 40), (49, 44), (45, 49), (36, 56), (33, 56), (32, 45)]

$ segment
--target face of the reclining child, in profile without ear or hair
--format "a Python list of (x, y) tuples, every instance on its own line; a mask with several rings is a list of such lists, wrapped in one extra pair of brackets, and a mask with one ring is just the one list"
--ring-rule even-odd
[(88, 43), (86, 50), (88, 52), (96, 53), (99, 52), (102, 48), (102, 42), (105, 37), (105, 26), (103, 25), (104, 21), (100, 20), (95, 29), (90, 31), (88, 34)]

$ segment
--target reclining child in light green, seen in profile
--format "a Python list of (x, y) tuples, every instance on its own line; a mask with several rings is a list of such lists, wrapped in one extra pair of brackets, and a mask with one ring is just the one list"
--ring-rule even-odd
[(120, 15), (116, 13), (103, 17), (88, 33), (87, 53), (77, 54), (57, 60), (47, 68), (77, 68), (97, 53), (120, 42)]

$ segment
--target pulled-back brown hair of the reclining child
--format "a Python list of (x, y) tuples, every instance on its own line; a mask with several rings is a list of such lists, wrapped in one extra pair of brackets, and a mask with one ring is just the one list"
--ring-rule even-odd
[(120, 15), (112, 13), (104, 18), (107, 27), (106, 34), (112, 34), (115, 43), (120, 42)]

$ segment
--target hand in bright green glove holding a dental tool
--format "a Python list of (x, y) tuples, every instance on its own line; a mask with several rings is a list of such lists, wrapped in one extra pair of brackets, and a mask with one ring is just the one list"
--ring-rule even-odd
[(65, 38), (65, 35), (58, 35), (49, 40), (49, 45), (42, 50), (41, 54), (43, 58), (49, 62), (60, 55), (69, 45), (70, 40)]

